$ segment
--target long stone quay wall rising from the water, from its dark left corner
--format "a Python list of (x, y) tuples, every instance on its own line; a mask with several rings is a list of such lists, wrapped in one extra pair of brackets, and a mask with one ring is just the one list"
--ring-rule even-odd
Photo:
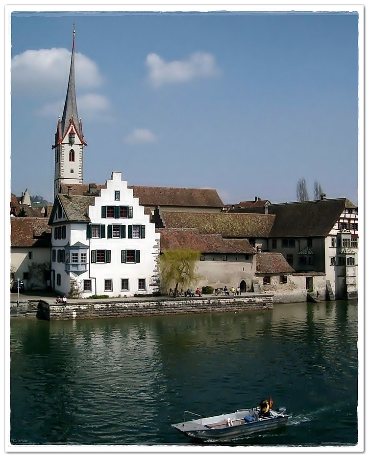
[(96, 319), (170, 314), (228, 312), (271, 309), (272, 294), (250, 294), (244, 297), (171, 298), (120, 301), (72, 302), (49, 304), (40, 300), (37, 317), (45, 320)]

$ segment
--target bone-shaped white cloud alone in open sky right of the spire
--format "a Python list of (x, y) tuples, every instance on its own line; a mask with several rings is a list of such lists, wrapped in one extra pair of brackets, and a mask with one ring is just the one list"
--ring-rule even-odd
[(220, 75), (215, 58), (208, 53), (191, 54), (188, 60), (165, 62), (157, 54), (148, 54), (146, 59), (148, 78), (155, 87), (166, 83), (180, 83), (195, 78), (210, 78)]

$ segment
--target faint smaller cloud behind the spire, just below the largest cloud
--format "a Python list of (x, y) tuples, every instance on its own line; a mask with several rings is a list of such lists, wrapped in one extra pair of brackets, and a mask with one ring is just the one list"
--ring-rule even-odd
[[(96, 119), (104, 115), (111, 108), (109, 100), (100, 94), (88, 93), (76, 98), (78, 115), (82, 121)], [(39, 116), (62, 116), (64, 100), (45, 104), (36, 113)]]

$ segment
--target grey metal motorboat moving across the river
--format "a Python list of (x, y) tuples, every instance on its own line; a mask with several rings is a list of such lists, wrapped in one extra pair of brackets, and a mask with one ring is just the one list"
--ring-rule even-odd
[[(186, 414), (198, 418), (185, 421)], [(284, 426), (288, 419), (284, 407), (278, 410), (270, 409), (264, 416), (260, 415), (258, 408), (238, 409), (234, 413), (210, 417), (202, 417), (185, 410), (183, 422), (172, 424), (172, 427), (186, 435), (203, 440), (231, 439), (277, 429)]]

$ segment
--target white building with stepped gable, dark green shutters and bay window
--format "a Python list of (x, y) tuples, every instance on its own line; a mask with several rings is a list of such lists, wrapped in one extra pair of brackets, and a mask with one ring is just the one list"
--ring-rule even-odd
[(130, 297), (158, 290), (160, 235), (120, 172), (96, 195), (57, 194), (49, 225), (56, 292)]

